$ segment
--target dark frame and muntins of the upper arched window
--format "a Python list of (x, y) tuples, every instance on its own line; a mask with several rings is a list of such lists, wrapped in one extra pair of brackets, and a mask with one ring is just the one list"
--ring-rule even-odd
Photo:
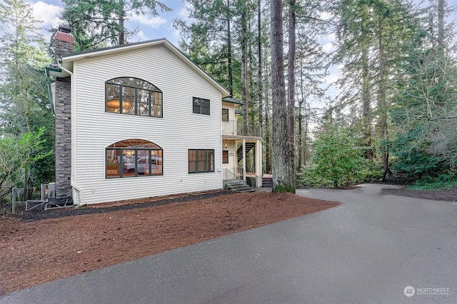
[[(150, 88), (147, 88), (146, 86), (134, 86), (134, 85), (131, 85), (131, 84), (127, 84), (127, 83), (119, 83), (119, 82), (122, 82), (122, 79), (132, 79), (132, 80), (136, 80), (137, 82), (141, 82), (143, 81), (144, 83), (147, 83), (149, 84), (151, 87)], [(116, 82), (117, 81), (117, 82)], [(116, 92), (119, 92), (119, 111), (109, 111), (108, 110), (108, 103), (109, 101), (112, 101), (113, 99), (109, 98), (108, 96), (108, 87), (109, 86), (117, 86), (119, 88), (119, 90), (116, 89)], [(134, 115), (134, 116), (144, 116), (144, 117), (156, 117), (156, 118), (163, 118), (164, 117), (164, 93), (159, 89), (157, 88), (156, 86), (154, 86), (153, 83), (150, 83), (149, 81), (145, 81), (144, 79), (141, 79), (141, 78), (136, 78), (136, 77), (117, 77), (117, 78), (112, 78), (108, 81), (105, 81), (105, 94), (104, 94), (104, 98), (105, 98), (105, 113), (118, 113), (118, 114), (126, 114), (126, 115)], [(133, 113), (126, 113), (124, 112), (124, 88), (133, 88), (134, 89), (134, 111)], [(147, 107), (148, 107), (148, 113), (146, 115), (141, 115), (139, 113), (139, 106), (141, 105), (141, 102), (139, 100), (139, 96), (141, 96), (141, 94), (139, 94), (139, 91), (147, 91)], [(158, 98), (156, 98), (156, 93), (159, 93), (160, 96), (158, 96)], [(160, 115), (159, 116), (155, 116), (153, 115), (154, 113), (154, 106), (160, 106)], [(114, 107), (113, 107), (114, 108)]]

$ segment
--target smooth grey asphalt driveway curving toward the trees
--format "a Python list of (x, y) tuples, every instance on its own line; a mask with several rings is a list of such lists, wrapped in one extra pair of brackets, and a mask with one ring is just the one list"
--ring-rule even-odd
[(386, 187), (298, 190), (342, 204), (0, 303), (457, 303), (457, 202), (386, 195)]

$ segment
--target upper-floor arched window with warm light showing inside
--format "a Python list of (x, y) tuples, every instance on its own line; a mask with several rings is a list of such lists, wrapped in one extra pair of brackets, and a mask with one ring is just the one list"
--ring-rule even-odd
[(139, 78), (111, 79), (105, 83), (105, 111), (162, 117), (162, 91)]

